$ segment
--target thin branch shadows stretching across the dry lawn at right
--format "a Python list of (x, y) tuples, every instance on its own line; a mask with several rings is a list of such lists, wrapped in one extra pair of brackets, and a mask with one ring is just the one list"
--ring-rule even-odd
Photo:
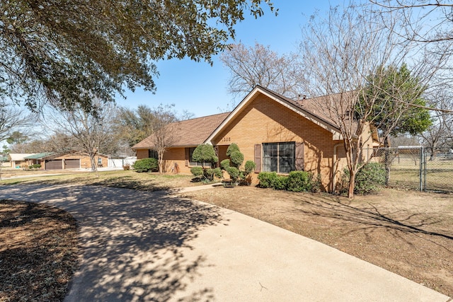
[[(328, 219), (344, 221), (344, 223), (357, 223), (362, 226), (360, 229), (372, 231), (376, 228), (386, 228), (387, 230), (401, 231), (403, 233), (425, 234), (432, 236), (428, 238), (443, 238), (453, 240), (453, 233), (448, 227), (439, 229), (440, 223), (443, 222), (439, 216), (430, 216), (430, 214), (414, 213), (407, 209), (395, 209), (394, 211), (385, 211), (378, 209), (371, 203), (360, 204), (357, 207), (350, 205), (339, 197), (314, 200), (304, 198), (299, 199), (295, 212), (302, 212), (309, 216), (323, 216)], [(302, 202), (302, 203), (301, 203)], [(428, 231), (432, 227), (436, 231)], [(350, 232), (359, 231), (359, 229)], [(347, 233), (345, 233), (347, 235)], [(426, 239), (426, 238), (425, 238)], [(427, 239), (430, 240), (430, 239)], [(432, 241), (432, 240), (430, 240)], [(435, 243), (434, 241), (432, 241)], [(436, 243), (438, 244), (438, 243)], [(448, 252), (453, 252), (442, 245)]]

